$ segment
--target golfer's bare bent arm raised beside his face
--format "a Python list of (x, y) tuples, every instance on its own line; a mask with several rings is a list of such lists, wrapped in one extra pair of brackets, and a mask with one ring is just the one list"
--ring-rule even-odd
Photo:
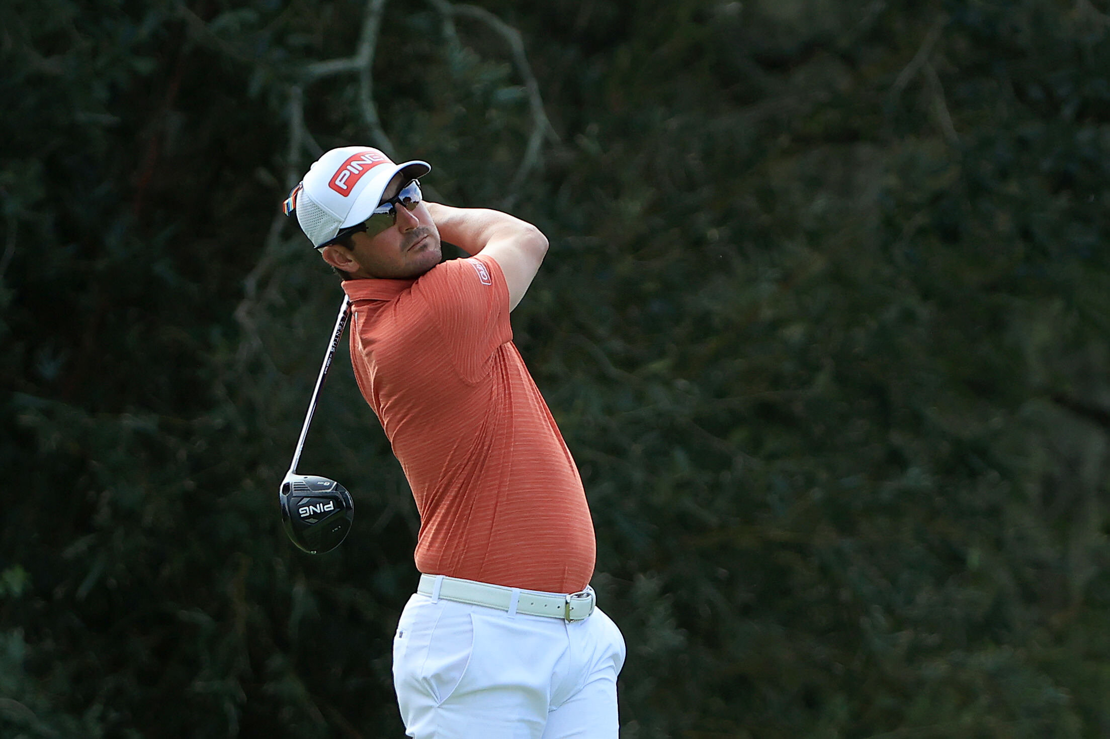
[(484, 254), (505, 274), (508, 309), (524, 297), (547, 254), (547, 237), (532, 224), (486, 208), (454, 208), (427, 203), (440, 237), (470, 255)]

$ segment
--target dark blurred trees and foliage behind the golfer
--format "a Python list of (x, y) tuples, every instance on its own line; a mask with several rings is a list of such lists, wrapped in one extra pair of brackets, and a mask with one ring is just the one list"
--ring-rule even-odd
[(1110, 737), (1107, 0), (6, 0), (0, 736), (401, 737), (417, 517), (280, 205), (538, 225), (624, 739)]

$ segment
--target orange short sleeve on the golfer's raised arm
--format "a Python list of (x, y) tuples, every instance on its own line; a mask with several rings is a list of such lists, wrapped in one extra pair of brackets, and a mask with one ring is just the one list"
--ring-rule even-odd
[(463, 379), (476, 382), (500, 346), (513, 340), (508, 286), (492, 257), (450, 259), (413, 285), (435, 322)]

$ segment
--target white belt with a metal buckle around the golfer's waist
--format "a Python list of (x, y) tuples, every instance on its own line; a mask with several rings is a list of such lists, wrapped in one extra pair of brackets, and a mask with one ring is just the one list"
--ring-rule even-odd
[(455, 601), (473, 606), (507, 610), (508, 615), (551, 616), (564, 620), (585, 620), (594, 613), (594, 588), (577, 593), (543, 593), (519, 587), (478, 583), (446, 575), (421, 575), (416, 592), (433, 601)]

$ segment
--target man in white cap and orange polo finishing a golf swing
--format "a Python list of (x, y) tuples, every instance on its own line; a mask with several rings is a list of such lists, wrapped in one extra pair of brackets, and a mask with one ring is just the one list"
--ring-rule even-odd
[[(624, 639), (594, 606), (582, 480), (508, 319), (547, 239), (424, 202), (430, 171), (335, 148), (285, 204), (343, 277), (355, 378), (420, 511), (401, 716), (416, 739), (615, 739)], [(441, 238), (471, 257), (441, 263)]]

